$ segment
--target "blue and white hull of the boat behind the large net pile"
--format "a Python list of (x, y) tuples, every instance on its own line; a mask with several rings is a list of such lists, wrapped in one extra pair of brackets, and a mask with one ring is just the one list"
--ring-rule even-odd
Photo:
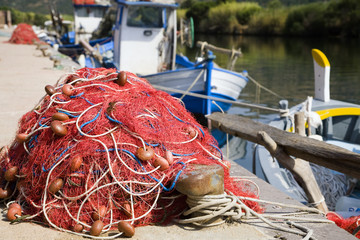
[[(153, 85), (234, 101), (239, 97), (248, 81), (243, 74), (221, 68), (213, 68), (208, 81), (207, 74), (208, 71), (206, 67), (182, 68), (153, 75), (145, 75), (143, 77)], [(210, 84), (210, 92), (207, 91), (207, 82)], [(170, 91), (168, 93), (172, 94)], [(175, 97), (182, 97), (182, 94), (173, 95)], [(182, 100), (189, 111), (201, 114), (209, 114), (221, 110), (227, 111), (231, 106), (231, 104), (228, 103), (216, 102), (216, 104), (211, 103), (209, 109), (206, 99), (186, 96)]]

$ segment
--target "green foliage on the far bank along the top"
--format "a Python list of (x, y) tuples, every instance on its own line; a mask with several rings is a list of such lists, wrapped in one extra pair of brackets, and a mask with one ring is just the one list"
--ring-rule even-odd
[[(42, 25), (52, 2), (72, 19), (71, 0), (0, 0), (13, 23)], [(195, 31), (216, 34), (360, 37), (359, 0), (178, 0)]]

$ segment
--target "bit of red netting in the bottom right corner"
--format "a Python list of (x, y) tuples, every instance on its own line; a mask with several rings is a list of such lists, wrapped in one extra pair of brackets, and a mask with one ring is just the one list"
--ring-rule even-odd
[(338, 227), (345, 229), (347, 232), (360, 239), (360, 216), (343, 218), (335, 212), (329, 212), (326, 217), (327, 219), (334, 221)]

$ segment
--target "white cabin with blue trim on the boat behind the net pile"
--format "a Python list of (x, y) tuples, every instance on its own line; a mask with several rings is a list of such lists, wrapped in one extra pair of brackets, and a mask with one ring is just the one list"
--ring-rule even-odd
[(124, 1), (118, 4), (114, 64), (146, 75), (175, 68), (175, 1)]

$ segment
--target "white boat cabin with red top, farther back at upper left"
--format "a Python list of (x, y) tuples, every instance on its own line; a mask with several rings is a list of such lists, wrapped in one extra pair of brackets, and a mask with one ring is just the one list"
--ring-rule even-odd
[(73, 5), (75, 43), (88, 41), (111, 6), (110, 0), (73, 0)]

